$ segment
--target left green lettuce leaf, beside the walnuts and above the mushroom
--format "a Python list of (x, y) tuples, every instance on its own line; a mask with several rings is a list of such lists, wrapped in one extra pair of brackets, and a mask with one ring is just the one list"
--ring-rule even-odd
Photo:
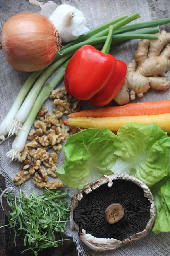
[(68, 187), (81, 189), (104, 174), (112, 174), (114, 141), (117, 136), (109, 129), (86, 129), (71, 135), (64, 145), (65, 162), (56, 175)]

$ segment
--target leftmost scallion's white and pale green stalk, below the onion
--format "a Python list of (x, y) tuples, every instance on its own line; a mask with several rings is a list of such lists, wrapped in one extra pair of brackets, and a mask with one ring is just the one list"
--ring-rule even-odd
[(0, 140), (4, 140), (5, 136), (8, 134), (8, 127), (10, 123), (14, 120), (16, 113), (18, 112), (22, 102), (25, 99), (25, 96), (29, 92), (30, 88), (32, 87), (33, 83), (39, 77), (39, 75), (44, 71), (44, 69), (40, 71), (36, 71), (32, 73), (27, 80), (25, 81), (24, 85), (22, 86), (18, 96), (16, 97), (12, 107), (10, 108), (9, 112), (7, 113), (6, 117), (0, 124)]

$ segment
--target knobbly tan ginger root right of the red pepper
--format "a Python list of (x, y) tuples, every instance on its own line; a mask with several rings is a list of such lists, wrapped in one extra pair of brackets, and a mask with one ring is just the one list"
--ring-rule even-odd
[(135, 100), (136, 95), (143, 97), (149, 88), (166, 90), (170, 87), (170, 81), (164, 77), (170, 68), (169, 42), (170, 33), (162, 30), (158, 33), (158, 40), (143, 39), (138, 43), (135, 60), (128, 64), (125, 83), (114, 98), (119, 105)]

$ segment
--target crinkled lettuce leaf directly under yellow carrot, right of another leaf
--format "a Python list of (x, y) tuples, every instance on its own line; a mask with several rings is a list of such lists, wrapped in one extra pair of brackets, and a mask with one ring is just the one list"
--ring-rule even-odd
[(152, 187), (170, 170), (170, 137), (156, 124), (122, 126), (114, 142), (118, 156), (111, 171), (129, 173)]

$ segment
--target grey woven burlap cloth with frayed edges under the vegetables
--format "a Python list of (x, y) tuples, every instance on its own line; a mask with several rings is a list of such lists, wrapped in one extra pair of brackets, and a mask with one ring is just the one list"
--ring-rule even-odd
[[(11, 1), (14, 3), (14, 1)], [(63, 3), (65, 1), (62, 1)], [(71, 1), (67, 1), (67, 3)], [(155, 18), (154, 11), (154, 0), (80, 0), (80, 1), (72, 1), (72, 4), (75, 5), (78, 9), (84, 12), (86, 19), (88, 21), (88, 26), (90, 29), (95, 26), (102, 24), (108, 21), (111, 18), (116, 16), (127, 14), (131, 15), (135, 12), (141, 15), (141, 19), (137, 22), (149, 21)], [(38, 7), (31, 7), (32, 10), (35, 9), (37, 11)], [(18, 10), (19, 11), (19, 10)], [(27, 11), (23, 9), (23, 11)], [(1, 19), (2, 17), (0, 17)], [(5, 21), (5, 20), (4, 20)], [(127, 64), (134, 57), (135, 50), (137, 48), (137, 40), (125, 42), (117, 47), (111, 49), (111, 54), (116, 57), (116, 59), (121, 59), (125, 61)], [(10, 67), (5, 60), (5, 57), (2, 52), (0, 52), (0, 121), (5, 117), (8, 110), (12, 106), (16, 95), (18, 94), (21, 86), (24, 84), (24, 81), (28, 77), (28, 73), (22, 73), (20, 71), (14, 70)], [(169, 77), (170, 78), (170, 77)], [(63, 82), (60, 86), (63, 86)], [(164, 92), (156, 92), (149, 90), (149, 92), (141, 99), (137, 99), (136, 102), (139, 101), (154, 101), (154, 100), (165, 100), (169, 98), (169, 90)], [(48, 106), (49, 109), (53, 108), (52, 100), (47, 100), (45, 105)], [(5, 156), (5, 153), (10, 150), (12, 146), (13, 138), (10, 138), (8, 141), (5, 141), (0, 145), (0, 173), (5, 177), (6, 186), (13, 186), (12, 179), (15, 177), (15, 174), (20, 170), (19, 162), (11, 162)], [(64, 162), (63, 151), (59, 154), (58, 167), (61, 166)], [(40, 189), (37, 189), (33, 185), (32, 179), (27, 181), (22, 188), (24, 192), (27, 194), (30, 193), (30, 189), (33, 189), (37, 192)], [(17, 188), (18, 189), (18, 188)], [(64, 189), (67, 189), (65, 187)], [(69, 189), (70, 195), (74, 195), (76, 191)], [(170, 233), (161, 233), (160, 235), (155, 235), (151, 232), (145, 239), (139, 241), (135, 244), (128, 245), (126, 247), (122, 247), (117, 251), (110, 252), (94, 252), (92, 250), (87, 249), (82, 245), (77, 232), (72, 231), (69, 225), (66, 228), (66, 234), (68, 236), (73, 237), (73, 241), (77, 245), (78, 253), (80, 255), (114, 255), (114, 256), (160, 256), (160, 255), (170, 255), (169, 249), (169, 241), (170, 241)]]

